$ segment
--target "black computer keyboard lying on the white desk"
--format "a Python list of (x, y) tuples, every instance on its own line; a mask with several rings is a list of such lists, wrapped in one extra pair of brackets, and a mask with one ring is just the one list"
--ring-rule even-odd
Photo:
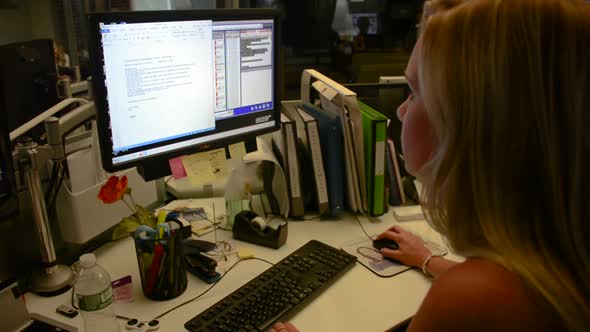
[(267, 331), (348, 271), (356, 257), (311, 240), (184, 324), (196, 331)]

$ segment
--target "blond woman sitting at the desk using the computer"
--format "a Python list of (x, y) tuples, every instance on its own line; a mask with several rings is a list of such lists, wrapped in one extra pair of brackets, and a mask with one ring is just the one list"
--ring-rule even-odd
[(467, 260), (379, 236), (438, 277), (409, 331), (590, 329), (589, 59), (581, 0), (466, 0), (428, 19), (402, 146), (429, 222)]

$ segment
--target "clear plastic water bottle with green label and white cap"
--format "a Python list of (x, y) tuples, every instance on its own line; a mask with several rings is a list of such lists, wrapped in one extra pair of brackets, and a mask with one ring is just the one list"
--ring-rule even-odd
[(113, 311), (111, 277), (102, 266), (96, 264), (94, 254), (80, 256), (74, 292), (86, 332), (120, 331)]

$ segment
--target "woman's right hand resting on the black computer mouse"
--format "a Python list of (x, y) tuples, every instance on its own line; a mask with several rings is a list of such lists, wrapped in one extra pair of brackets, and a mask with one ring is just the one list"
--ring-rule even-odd
[(381, 254), (408, 266), (421, 267), (424, 259), (431, 254), (419, 237), (397, 225), (377, 235), (376, 239), (390, 239), (397, 242), (398, 250), (383, 248)]

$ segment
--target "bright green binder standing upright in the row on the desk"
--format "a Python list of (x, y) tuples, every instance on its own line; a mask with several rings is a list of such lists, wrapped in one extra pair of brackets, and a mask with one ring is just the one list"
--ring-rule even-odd
[(363, 119), (367, 205), (371, 216), (385, 213), (385, 146), (387, 117), (359, 101)]

